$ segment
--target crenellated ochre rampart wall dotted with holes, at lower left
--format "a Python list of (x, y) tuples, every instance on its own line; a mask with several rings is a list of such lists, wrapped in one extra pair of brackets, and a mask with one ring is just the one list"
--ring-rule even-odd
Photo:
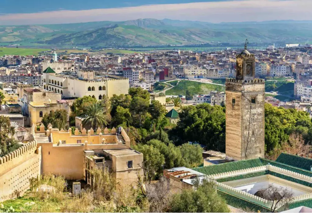
[(0, 157), (0, 201), (14, 198), (14, 191), (22, 196), (29, 189), (29, 179), (40, 175), (40, 165), (41, 147), (36, 141)]

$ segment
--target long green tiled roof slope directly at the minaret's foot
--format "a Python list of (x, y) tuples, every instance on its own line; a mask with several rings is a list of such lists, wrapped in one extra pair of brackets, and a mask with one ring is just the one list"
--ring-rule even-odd
[(247, 169), (247, 168), (252, 168), (252, 167), (257, 167), (257, 166), (263, 166), (263, 163), (261, 162), (259, 158), (243, 160), (243, 161), (234, 161), (234, 162), (229, 162), (229, 163), (222, 163), (222, 164), (212, 165), (212, 166), (197, 167), (197, 168), (193, 168), (193, 170), (201, 172), (206, 175), (213, 175), (213, 174)]

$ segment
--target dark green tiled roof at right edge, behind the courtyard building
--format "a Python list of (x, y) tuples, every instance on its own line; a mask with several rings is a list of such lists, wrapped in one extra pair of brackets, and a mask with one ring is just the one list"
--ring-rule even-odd
[(284, 163), (308, 171), (311, 170), (312, 166), (312, 159), (286, 153), (280, 154), (280, 156), (278, 156), (278, 158), (276, 159), (276, 162)]

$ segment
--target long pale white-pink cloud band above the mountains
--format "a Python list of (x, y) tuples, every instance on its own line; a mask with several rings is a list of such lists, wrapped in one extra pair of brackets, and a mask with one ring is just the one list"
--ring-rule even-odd
[(169, 18), (215, 23), (289, 19), (310, 20), (311, 8), (311, 0), (239, 0), (158, 4), (79, 11), (58, 10), (4, 14), (0, 16), (0, 25), (125, 21), (138, 18)]

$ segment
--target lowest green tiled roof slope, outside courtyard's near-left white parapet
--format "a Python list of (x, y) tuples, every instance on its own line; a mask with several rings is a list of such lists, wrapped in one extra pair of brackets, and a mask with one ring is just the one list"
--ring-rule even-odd
[(271, 212), (270, 209), (266, 208), (265, 206), (258, 205), (251, 201), (247, 201), (240, 197), (228, 194), (224, 191), (217, 190), (217, 193), (220, 197), (222, 197), (228, 205), (233, 206), (235, 208), (239, 208), (242, 210), (248, 210), (248, 212), (257, 212), (258, 210), (261, 212)]

